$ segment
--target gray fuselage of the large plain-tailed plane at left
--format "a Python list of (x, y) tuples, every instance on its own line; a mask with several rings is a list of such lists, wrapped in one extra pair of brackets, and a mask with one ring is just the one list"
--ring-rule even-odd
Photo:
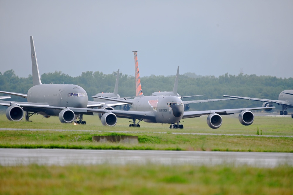
[[(28, 90), (27, 100), (28, 102), (44, 103), (49, 106), (75, 108), (86, 108), (88, 104), (86, 91), (74, 84), (35, 85)], [(38, 109), (34, 111), (38, 111)], [(58, 116), (59, 112), (60, 110), (57, 109), (46, 109), (45, 112), (40, 111), (40, 114)]]

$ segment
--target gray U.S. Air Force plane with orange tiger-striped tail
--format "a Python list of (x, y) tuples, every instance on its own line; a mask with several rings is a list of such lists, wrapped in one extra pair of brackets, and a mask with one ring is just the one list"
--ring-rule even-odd
[[(251, 110), (267, 109), (260, 107), (184, 112), (184, 104), (182, 100), (177, 96), (144, 96), (142, 93), (142, 87), (139, 77), (137, 51), (133, 52), (136, 97), (133, 100), (112, 99), (103, 96), (99, 96), (97, 98), (129, 103), (132, 105), (134, 111), (104, 110), (101, 119), (103, 125), (115, 126), (115, 124), (117, 123), (117, 117), (119, 117), (132, 119), (132, 124), (130, 124), (129, 127), (140, 127), (139, 122), (144, 121), (149, 123), (167, 123), (171, 124), (170, 128), (183, 129), (183, 125), (179, 125), (181, 119), (208, 115), (207, 124), (209, 125), (209, 127), (217, 129), (222, 125), (221, 115), (239, 113), (238, 118), (241, 124), (251, 125), (254, 120), (254, 115)], [(88, 109), (88, 111), (92, 110), (93, 109)], [(137, 123), (136, 119), (139, 120)]]

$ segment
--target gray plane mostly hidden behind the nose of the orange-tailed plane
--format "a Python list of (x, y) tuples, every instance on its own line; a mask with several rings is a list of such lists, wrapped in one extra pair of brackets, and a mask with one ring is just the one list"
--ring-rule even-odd
[[(179, 66), (177, 68), (177, 73), (176, 73), (176, 77), (175, 77), (175, 83), (174, 83), (174, 87), (173, 87), (173, 91), (172, 92), (154, 92), (151, 95), (152, 96), (177, 96), (180, 99), (183, 98), (188, 98), (188, 97), (195, 97), (195, 96), (205, 96), (205, 95), (192, 95), (192, 96), (180, 96), (177, 93), (177, 89), (178, 89), (178, 77), (179, 77)], [(223, 99), (204, 99), (204, 100), (190, 100), (190, 101), (183, 101), (184, 104), (184, 111), (188, 111), (190, 106), (190, 103), (203, 103), (203, 102), (210, 102), (210, 101), (222, 101), (222, 100), (233, 100), (236, 98), (223, 98)]]

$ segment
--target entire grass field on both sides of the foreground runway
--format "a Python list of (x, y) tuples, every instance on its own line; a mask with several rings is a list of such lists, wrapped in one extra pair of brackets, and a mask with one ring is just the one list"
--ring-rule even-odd
[[(86, 125), (61, 124), (57, 117), (42, 119), (41, 116), (33, 116), (30, 119), (33, 121), (12, 122), (5, 115), (0, 115), (0, 128), (37, 129), (2, 130), (0, 147), (293, 152), (292, 137), (171, 134), (256, 135), (259, 129), (259, 135), (292, 136), (293, 119), (289, 117), (255, 117), (252, 125), (243, 126), (237, 115), (224, 116), (223, 125), (217, 130), (208, 127), (206, 117), (184, 120), (183, 130), (171, 130), (166, 124), (144, 122), (140, 123), (140, 128), (129, 128), (128, 120), (119, 118), (115, 127), (105, 127), (97, 116), (85, 116)], [(139, 144), (100, 144), (91, 141), (92, 135), (102, 134), (138, 135)], [(0, 166), (0, 194), (289, 195), (293, 194), (292, 178), (293, 167), (288, 165), (255, 168), (234, 165), (32, 164)]]

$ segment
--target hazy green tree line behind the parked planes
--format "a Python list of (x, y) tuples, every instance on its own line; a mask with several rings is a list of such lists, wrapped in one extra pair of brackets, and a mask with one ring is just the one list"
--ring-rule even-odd
[[(88, 99), (100, 92), (113, 92), (117, 72), (112, 74), (103, 74), (102, 72), (86, 71), (80, 76), (71, 77), (55, 71), (52, 73), (44, 73), (41, 75), (43, 84), (77, 84), (83, 87)], [(150, 95), (157, 91), (172, 91), (175, 82), (174, 76), (145, 76), (141, 77), (142, 91), (144, 95)], [(0, 90), (8, 92), (18, 92), (27, 94), (28, 89), (33, 86), (32, 76), (27, 78), (18, 77), (13, 70), (7, 70), (3, 74), (0, 72)], [(263, 99), (278, 99), (281, 91), (285, 89), (293, 89), (293, 78), (277, 78), (273, 76), (257, 76), (257, 75), (239, 75), (224, 74), (219, 77), (201, 76), (194, 73), (185, 73), (179, 75), (178, 94), (181, 96), (200, 95), (205, 96), (185, 98), (183, 100), (199, 100), (199, 99), (219, 99), (223, 95), (235, 95), (256, 97)], [(118, 94), (121, 97), (135, 96), (135, 79), (132, 75), (119, 75)], [(0, 94), (5, 95), (5, 94)], [(26, 101), (21, 97), (11, 96), (12, 101)], [(244, 108), (244, 107), (260, 107), (262, 102), (248, 100), (228, 100), (208, 103), (190, 104), (191, 110), (211, 110), (225, 108)], [(280, 109), (280, 106), (277, 106)], [(6, 107), (1, 106), (1, 109)], [(274, 111), (274, 110), (273, 110)]]

